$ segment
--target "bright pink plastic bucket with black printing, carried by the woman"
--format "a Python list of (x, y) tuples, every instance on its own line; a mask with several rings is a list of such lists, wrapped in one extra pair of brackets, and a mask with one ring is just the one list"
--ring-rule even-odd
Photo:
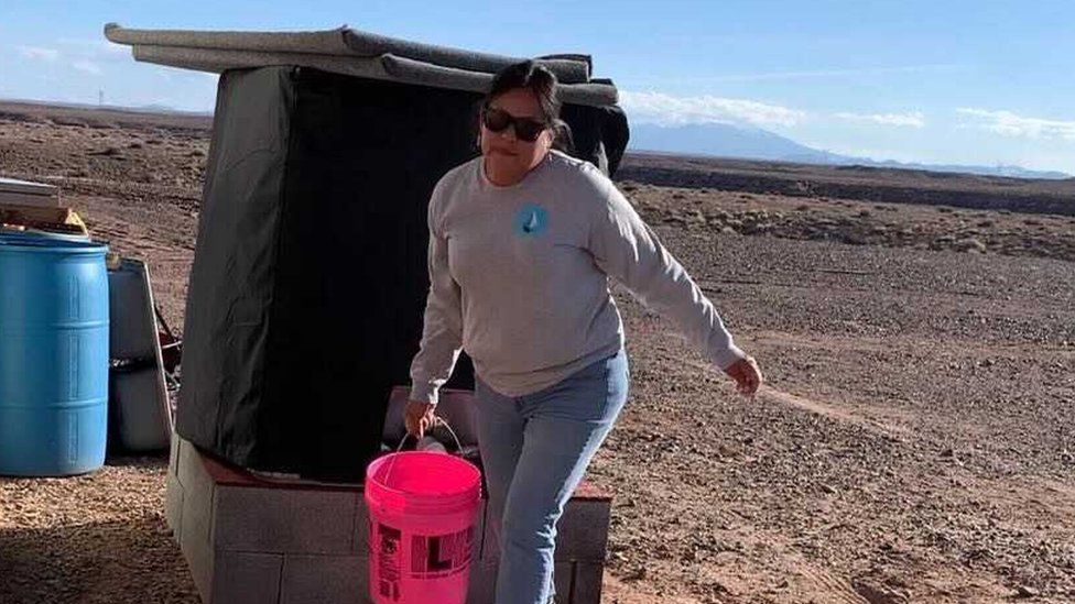
[(366, 469), (374, 604), (464, 604), (481, 473), (444, 453), (408, 451)]

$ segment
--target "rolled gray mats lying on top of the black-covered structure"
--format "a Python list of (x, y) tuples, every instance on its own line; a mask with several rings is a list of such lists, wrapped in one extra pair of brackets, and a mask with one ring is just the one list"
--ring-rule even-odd
[[(105, 25), (105, 36), (132, 46), (137, 61), (200, 72), (297, 65), (326, 72), (437, 88), (484, 92), (501, 68), (523, 61), (435, 46), (339, 28), (318, 32), (203, 32), (130, 30)], [(611, 81), (591, 79), (584, 54), (536, 57), (561, 83), (564, 102), (606, 106), (617, 101)]]

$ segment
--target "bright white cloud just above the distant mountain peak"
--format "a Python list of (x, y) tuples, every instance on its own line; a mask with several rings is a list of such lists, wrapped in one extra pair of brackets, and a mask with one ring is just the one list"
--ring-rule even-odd
[(754, 125), (795, 125), (804, 111), (749, 99), (714, 96), (676, 97), (664, 92), (620, 91), (620, 105), (633, 120), (661, 125), (746, 122)]

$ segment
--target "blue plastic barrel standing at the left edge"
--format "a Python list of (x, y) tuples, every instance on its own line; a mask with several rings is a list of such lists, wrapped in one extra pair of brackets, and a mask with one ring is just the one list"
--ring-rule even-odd
[(105, 463), (106, 251), (0, 235), (0, 474), (62, 476)]

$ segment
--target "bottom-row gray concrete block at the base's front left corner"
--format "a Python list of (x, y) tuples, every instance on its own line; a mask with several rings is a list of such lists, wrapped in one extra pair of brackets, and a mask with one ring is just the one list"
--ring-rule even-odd
[(283, 563), (280, 553), (217, 551), (211, 604), (276, 604)]

